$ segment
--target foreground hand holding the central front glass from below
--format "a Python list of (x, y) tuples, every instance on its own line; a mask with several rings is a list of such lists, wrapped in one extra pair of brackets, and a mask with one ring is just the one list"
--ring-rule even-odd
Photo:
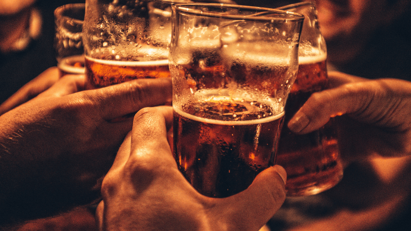
[(266, 169), (234, 196), (202, 196), (177, 168), (166, 135), (172, 121), (166, 106), (135, 115), (133, 130), (103, 180), (96, 213), (100, 230), (251, 231), (263, 226), (285, 200), (284, 168)]

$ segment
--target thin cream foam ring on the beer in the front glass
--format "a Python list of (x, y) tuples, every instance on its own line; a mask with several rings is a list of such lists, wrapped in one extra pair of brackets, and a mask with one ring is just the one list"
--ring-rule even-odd
[(235, 125), (250, 125), (250, 124), (264, 124), (274, 120), (278, 120), (284, 116), (284, 111), (280, 112), (276, 115), (271, 115), (270, 117), (266, 117), (263, 119), (258, 120), (241, 120), (241, 121), (226, 121), (226, 120), (214, 120), (214, 119), (207, 119), (196, 117), (195, 115), (183, 112), (182, 110), (178, 109), (176, 106), (173, 106), (173, 110), (180, 114), (182, 117), (188, 118), (190, 120), (195, 120), (201, 123), (208, 123), (208, 124), (217, 124), (217, 125), (227, 125), (227, 126), (235, 126)]

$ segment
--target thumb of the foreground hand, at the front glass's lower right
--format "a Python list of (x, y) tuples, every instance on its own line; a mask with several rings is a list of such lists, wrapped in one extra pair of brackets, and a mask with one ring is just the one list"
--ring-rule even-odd
[(222, 199), (222, 207), (217, 209), (226, 208), (228, 216), (225, 217), (230, 219), (226, 222), (233, 225), (233, 230), (258, 230), (283, 205), (286, 179), (283, 167), (272, 166), (260, 172), (246, 190)]

